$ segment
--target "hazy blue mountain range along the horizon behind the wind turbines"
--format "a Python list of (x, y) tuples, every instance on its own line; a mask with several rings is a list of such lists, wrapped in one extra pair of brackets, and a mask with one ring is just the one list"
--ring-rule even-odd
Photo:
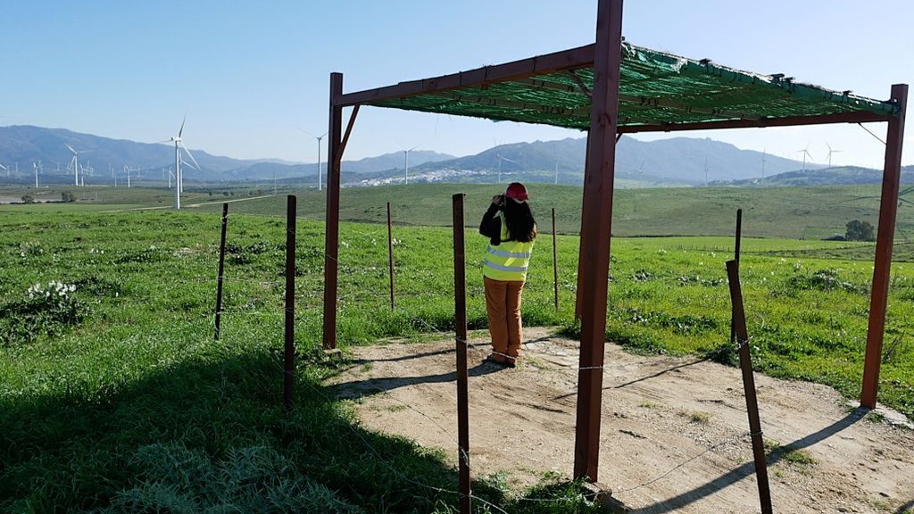
[[(136, 143), (66, 129), (29, 125), (0, 127), (0, 181), (29, 184), (33, 163), (42, 182), (66, 184), (72, 153), (80, 152), (80, 167), (88, 168), (87, 184), (110, 184), (112, 174), (123, 180), (124, 167), (139, 170), (141, 180), (162, 181), (174, 166), (172, 145)], [(409, 153), (409, 182), (494, 183), (518, 181), (581, 184), (584, 176), (584, 137), (497, 145), (475, 155), (456, 157), (431, 151)], [(200, 169), (185, 169), (185, 180), (194, 182), (265, 182), (316, 184), (316, 163), (290, 163), (279, 159), (234, 159), (192, 150)], [(342, 182), (348, 186), (396, 184), (407, 180), (404, 153), (396, 152), (343, 161)], [(322, 168), (325, 170), (325, 163)], [(16, 173), (18, 167), (18, 173)], [(910, 167), (910, 166), (909, 166)], [(324, 171), (325, 173), (325, 171)], [(910, 173), (910, 170), (909, 170)], [(68, 177), (69, 176), (69, 177)], [(712, 139), (674, 137), (640, 141), (622, 137), (616, 153), (617, 187), (669, 187), (733, 185), (766, 187), (870, 183), (881, 172), (868, 168), (802, 163), (741, 150)], [(908, 176), (906, 176), (907, 178)]]

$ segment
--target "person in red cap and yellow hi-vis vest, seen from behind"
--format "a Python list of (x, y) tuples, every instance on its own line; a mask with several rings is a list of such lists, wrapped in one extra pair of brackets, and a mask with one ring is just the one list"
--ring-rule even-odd
[(537, 239), (537, 222), (528, 199), (526, 187), (512, 182), (505, 194), (492, 198), (479, 224), (479, 233), (489, 238), (483, 281), (492, 353), (486, 359), (509, 368), (515, 367), (524, 338), (521, 294)]

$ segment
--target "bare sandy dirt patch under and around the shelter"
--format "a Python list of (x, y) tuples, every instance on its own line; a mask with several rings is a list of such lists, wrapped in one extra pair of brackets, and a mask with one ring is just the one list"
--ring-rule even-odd
[[(484, 347), (470, 351), (473, 476), (502, 472), (518, 487), (568, 476), (574, 460), (579, 343), (545, 328), (526, 329), (526, 339), (517, 369), (483, 362)], [(331, 381), (368, 428), (441, 447), (456, 464), (453, 345), (356, 348)], [(829, 387), (756, 383), (775, 511), (914, 508), (914, 431), (871, 421)], [(615, 498), (642, 514), (760, 510), (739, 369), (607, 345), (603, 387), (600, 482)]]

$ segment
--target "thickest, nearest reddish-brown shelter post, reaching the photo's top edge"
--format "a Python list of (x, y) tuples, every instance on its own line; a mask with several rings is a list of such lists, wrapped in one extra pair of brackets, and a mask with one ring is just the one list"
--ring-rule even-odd
[(622, 0), (600, 0), (593, 102), (584, 168), (581, 212), (580, 360), (575, 431), (574, 477), (597, 481), (603, 348), (606, 342), (606, 294), (610, 271), (612, 181), (615, 172), (619, 66), (622, 60)]

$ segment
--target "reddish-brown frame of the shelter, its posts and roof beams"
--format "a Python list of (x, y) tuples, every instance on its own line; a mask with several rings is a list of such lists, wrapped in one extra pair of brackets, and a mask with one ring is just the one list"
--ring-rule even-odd
[[(898, 211), (901, 147), (908, 85), (891, 87), (887, 102), (894, 113), (838, 112), (785, 117), (745, 117), (700, 123), (618, 124), (622, 60), (622, 0), (598, 0), (596, 43), (505, 64), (425, 80), (400, 82), (366, 91), (343, 92), (343, 74), (330, 74), (326, 232), (324, 241), (324, 348), (336, 347), (337, 257), (339, 242), (340, 162), (360, 105), (420, 94), (452, 94), (467, 87), (485, 87), (505, 80), (528, 80), (561, 70), (592, 67), (594, 84), (584, 171), (579, 243), (578, 313), (581, 319), (577, 428), (574, 477), (597, 480), (600, 456), (600, 407), (603, 350), (606, 336), (607, 286), (610, 264), (612, 188), (615, 143), (622, 134), (686, 130), (887, 122), (886, 153), (879, 207), (876, 258), (866, 333), (866, 358), (860, 403), (877, 404), (879, 369), (885, 335), (892, 245)], [(662, 100), (661, 100), (662, 101)], [(668, 106), (668, 105), (664, 105)], [(345, 134), (343, 109), (352, 107)]]

